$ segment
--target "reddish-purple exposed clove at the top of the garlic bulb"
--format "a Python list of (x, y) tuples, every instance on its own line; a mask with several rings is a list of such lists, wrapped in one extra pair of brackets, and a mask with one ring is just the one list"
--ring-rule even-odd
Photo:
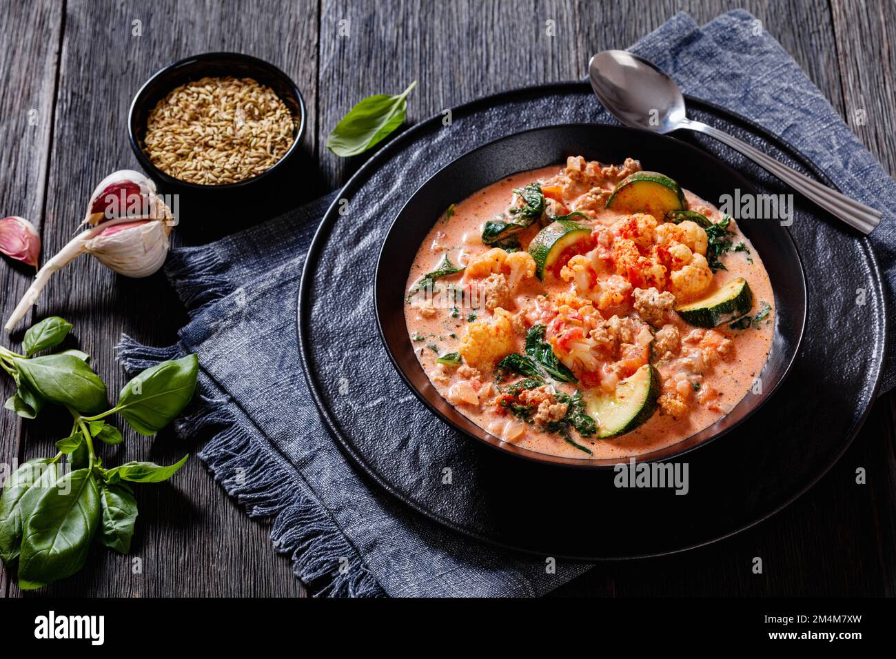
[(156, 185), (134, 169), (119, 169), (103, 178), (90, 195), (85, 224), (133, 217), (144, 220), (168, 219), (167, 207), (159, 204)]

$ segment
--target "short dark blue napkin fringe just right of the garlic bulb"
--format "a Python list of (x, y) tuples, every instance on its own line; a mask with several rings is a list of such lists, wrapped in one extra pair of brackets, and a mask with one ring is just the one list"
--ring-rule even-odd
[(226, 265), (220, 256), (208, 245), (174, 249), (165, 263), (168, 282), (171, 282), (191, 318), (202, 308), (233, 292), (225, 270)]

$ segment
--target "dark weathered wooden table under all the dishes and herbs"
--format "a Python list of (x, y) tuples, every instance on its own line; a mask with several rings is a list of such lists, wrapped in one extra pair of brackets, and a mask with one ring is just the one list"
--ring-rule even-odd
[[(739, 5), (797, 59), (884, 168), (896, 171), (893, 0), (16, 0), (0, 9), (0, 212), (34, 221), (43, 257), (55, 254), (81, 220), (93, 186), (115, 169), (139, 169), (127, 143), (129, 103), (150, 74), (184, 56), (245, 52), (279, 65), (297, 82), (309, 110), (306, 158), (320, 172), (297, 186), (299, 204), (351, 173), (323, 143), (364, 96), (419, 80), (409, 100), (413, 123), (494, 91), (580, 79), (591, 54), (625, 48), (677, 11), (706, 22)], [(545, 34), (548, 20), (555, 22), (553, 38)], [(339, 36), (341, 21), (348, 21), (349, 36)], [(30, 277), (4, 260), (0, 279), (5, 317)], [(34, 317), (73, 321), (77, 343), (117, 391), (125, 382), (113, 354), (120, 335), (173, 343), (185, 320), (179, 309), (161, 275), (125, 280), (84, 257), (56, 275)], [(21, 335), (4, 334), (4, 344)], [(0, 395), (11, 393), (4, 377)], [(600, 565), (559, 593), (896, 594), (894, 419), (896, 395), (885, 395), (831, 473), (762, 525), (675, 557)], [(53, 420), (20, 422), (6, 412), (0, 461), (47, 454), (64, 433)], [(163, 433), (150, 442), (129, 432), (108, 460), (173, 462), (200, 445), (198, 438)], [(866, 469), (866, 484), (856, 482), (858, 467)], [(306, 594), (289, 560), (272, 549), (268, 525), (246, 516), (198, 459), (174, 484), (142, 488), (137, 498), (132, 556), (95, 551), (79, 575), (40, 593)], [(755, 556), (763, 559), (762, 575), (751, 571)], [(134, 557), (142, 559), (142, 574), (132, 570)], [(21, 594), (0, 573), (0, 596)]]

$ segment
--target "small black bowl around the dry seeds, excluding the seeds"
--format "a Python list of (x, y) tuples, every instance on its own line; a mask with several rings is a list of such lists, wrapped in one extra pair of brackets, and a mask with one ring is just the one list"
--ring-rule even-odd
[[(270, 169), (266, 169), (261, 174), (220, 186), (206, 186), (175, 178), (153, 165), (142, 148), (143, 136), (146, 134), (146, 119), (152, 108), (155, 108), (159, 100), (164, 99), (169, 91), (185, 82), (199, 80), (206, 76), (225, 75), (235, 78), (252, 78), (261, 82), (270, 87), (286, 104), (289, 111), (297, 118), (297, 126), (293, 131), (293, 142), (289, 151)], [(253, 186), (259, 181), (269, 178), (275, 171), (286, 169), (287, 161), (299, 150), (298, 145), (301, 142), (302, 132), (305, 130), (305, 123), (305, 101), (302, 99), (302, 94), (298, 91), (296, 83), (292, 82), (289, 76), (279, 68), (257, 57), (241, 53), (205, 53), (186, 57), (173, 65), (168, 65), (144, 82), (131, 103), (131, 110), (127, 118), (127, 131), (134, 155), (137, 156), (141, 167), (149, 174), (150, 178), (160, 182), (164, 189), (174, 192), (204, 192), (245, 189), (247, 186)]]

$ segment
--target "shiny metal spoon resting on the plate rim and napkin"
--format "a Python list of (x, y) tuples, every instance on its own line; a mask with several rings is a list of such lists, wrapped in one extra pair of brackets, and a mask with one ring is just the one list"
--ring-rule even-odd
[(626, 126), (654, 133), (670, 133), (685, 128), (708, 134), (768, 169), (815, 204), (862, 233), (871, 233), (880, 223), (882, 213), (871, 206), (803, 176), (718, 128), (688, 119), (685, 116), (685, 98), (675, 81), (648, 60), (625, 50), (604, 50), (591, 57), (588, 71), (591, 87), (600, 102)]

